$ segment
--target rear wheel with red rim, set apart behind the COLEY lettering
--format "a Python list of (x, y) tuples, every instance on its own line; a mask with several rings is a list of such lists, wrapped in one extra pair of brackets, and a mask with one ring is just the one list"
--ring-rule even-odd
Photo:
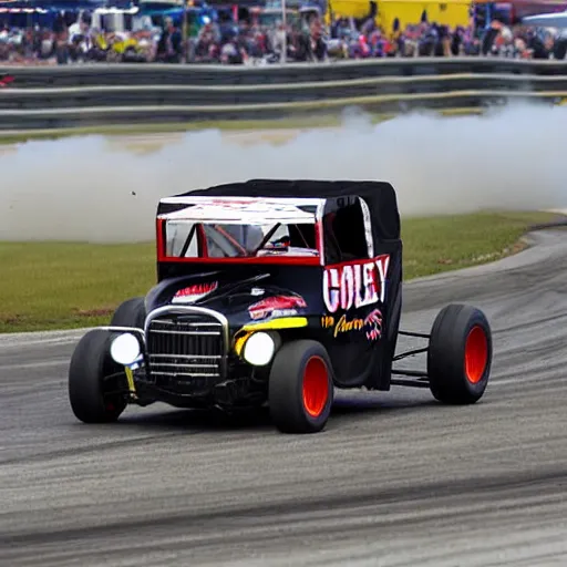
[(431, 330), (427, 374), (433, 396), (443, 403), (472, 404), (488, 385), (492, 331), (475, 307), (444, 307)]

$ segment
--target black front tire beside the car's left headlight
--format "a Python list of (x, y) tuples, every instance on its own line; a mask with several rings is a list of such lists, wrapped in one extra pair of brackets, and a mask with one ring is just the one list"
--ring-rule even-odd
[[(100, 329), (79, 341), (69, 367), (69, 401), (75, 417), (84, 423), (116, 421), (126, 408), (118, 389), (120, 378), (105, 377), (121, 371), (110, 355), (112, 333)], [(105, 393), (109, 392), (109, 393)]]

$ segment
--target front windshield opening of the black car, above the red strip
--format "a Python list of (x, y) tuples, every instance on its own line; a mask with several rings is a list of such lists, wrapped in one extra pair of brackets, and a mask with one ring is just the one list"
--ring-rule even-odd
[(310, 224), (225, 224), (168, 220), (166, 256), (174, 258), (318, 257)]

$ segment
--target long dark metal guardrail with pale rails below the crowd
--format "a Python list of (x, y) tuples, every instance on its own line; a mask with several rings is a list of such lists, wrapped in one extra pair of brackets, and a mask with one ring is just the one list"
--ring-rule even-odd
[(0, 68), (0, 130), (478, 107), (567, 97), (567, 61), (423, 58), (267, 66)]

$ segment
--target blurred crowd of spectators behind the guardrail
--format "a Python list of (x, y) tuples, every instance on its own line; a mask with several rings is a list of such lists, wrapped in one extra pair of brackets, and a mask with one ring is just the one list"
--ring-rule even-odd
[(184, 41), (181, 27), (164, 18), (161, 27), (145, 25), (130, 32), (107, 32), (92, 25), (89, 16), (51, 29), (0, 29), (2, 64), (71, 64), (107, 62), (174, 62), (266, 64), (280, 61), (416, 56), (505, 56), (565, 59), (567, 39), (553, 30), (507, 25), (493, 21), (487, 29), (450, 29), (427, 22), (385, 33), (372, 19), (354, 22), (321, 18), (272, 25), (233, 22), (205, 23)]

